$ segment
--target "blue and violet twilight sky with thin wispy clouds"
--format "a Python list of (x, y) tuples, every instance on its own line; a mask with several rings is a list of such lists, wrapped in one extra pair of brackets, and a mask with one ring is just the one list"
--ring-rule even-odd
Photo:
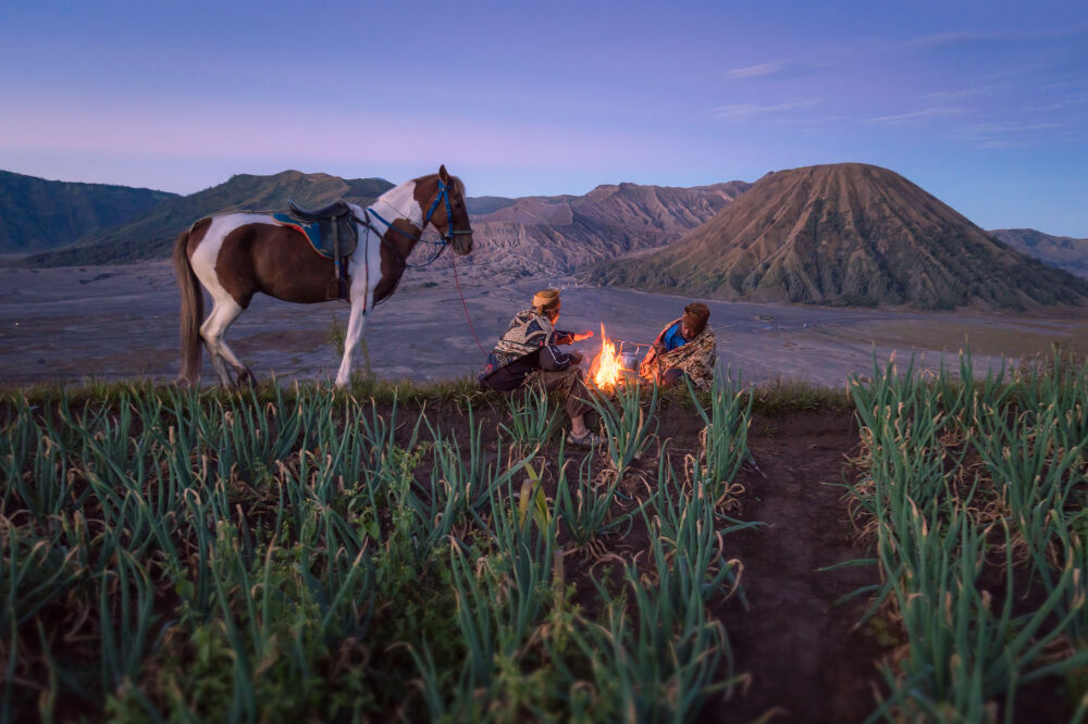
[(32, 176), (445, 164), (518, 197), (848, 161), (1088, 237), (1088, 2), (0, 0), (0, 168)]

